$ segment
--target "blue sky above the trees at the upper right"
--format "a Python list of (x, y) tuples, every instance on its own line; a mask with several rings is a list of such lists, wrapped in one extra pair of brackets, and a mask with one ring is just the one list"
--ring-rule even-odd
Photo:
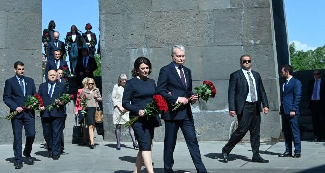
[(289, 43), (296, 50), (325, 45), (325, 0), (284, 0)]

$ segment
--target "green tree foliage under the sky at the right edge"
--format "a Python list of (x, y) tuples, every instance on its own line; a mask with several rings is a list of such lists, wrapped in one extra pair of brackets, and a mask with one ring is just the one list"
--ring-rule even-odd
[(325, 45), (315, 50), (296, 50), (294, 43), (289, 45), (290, 61), (295, 70), (313, 70), (325, 68)]

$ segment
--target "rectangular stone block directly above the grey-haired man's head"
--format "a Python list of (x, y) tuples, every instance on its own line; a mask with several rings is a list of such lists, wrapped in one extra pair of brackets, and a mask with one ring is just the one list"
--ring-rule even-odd
[(147, 47), (213, 46), (213, 18), (212, 11), (144, 13)]

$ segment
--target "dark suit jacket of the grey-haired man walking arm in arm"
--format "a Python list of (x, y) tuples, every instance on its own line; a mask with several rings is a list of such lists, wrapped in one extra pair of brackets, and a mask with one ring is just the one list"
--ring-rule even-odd
[(178, 75), (173, 63), (160, 69), (157, 81), (157, 94), (162, 95), (168, 103), (168, 112), (162, 114), (164, 120), (182, 120), (186, 116), (193, 119), (191, 105), (182, 105), (178, 110), (172, 110), (172, 104), (175, 104), (178, 97), (189, 98), (192, 92), (192, 74), (189, 68), (182, 66), (186, 78), (186, 87), (183, 86), (181, 78)]

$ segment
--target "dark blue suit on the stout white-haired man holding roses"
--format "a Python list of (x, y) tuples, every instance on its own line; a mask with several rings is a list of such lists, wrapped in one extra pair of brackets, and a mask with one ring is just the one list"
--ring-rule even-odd
[[(56, 82), (52, 97), (49, 96), (48, 83), (42, 83), (39, 86), (38, 94), (42, 97), (44, 107), (55, 102), (64, 93), (67, 93), (63, 83)], [(42, 118), (43, 135), (46, 141), (49, 154), (59, 155), (61, 147), (61, 128), (64, 118), (64, 105), (54, 107), (49, 111), (48, 109), (40, 112)]]

